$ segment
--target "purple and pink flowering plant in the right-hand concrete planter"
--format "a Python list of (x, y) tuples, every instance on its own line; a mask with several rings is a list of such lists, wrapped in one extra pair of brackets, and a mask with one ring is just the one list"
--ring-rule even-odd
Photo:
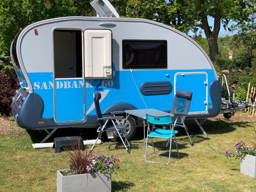
[(246, 155), (256, 156), (256, 151), (253, 150), (250, 146), (246, 146), (244, 141), (239, 141), (235, 145), (236, 152), (229, 153), (228, 151), (225, 152), (225, 155), (228, 157), (235, 157), (236, 159), (244, 159)]

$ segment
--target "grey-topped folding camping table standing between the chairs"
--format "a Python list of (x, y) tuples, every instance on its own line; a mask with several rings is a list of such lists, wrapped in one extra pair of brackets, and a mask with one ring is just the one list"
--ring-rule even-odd
[[(146, 120), (146, 114), (149, 114), (149, 115), (154, 115), (154, 116), (163, 116), (163, 115), (172, 115), (174, 116), (173, 114), (170, 114), (170, 113), (166, 113), (164, 111), (159, 111), (159, 110), (156, 110), (156, 109), (135, 109), (135, 110), (125, 110), (124, 111), (126, 113), (126, 120), (127, 118), (129, 117), (129, 115), (134, 115), (138, 118), (141, 118), (143, 120), (143, 125), (144, 125), (144, 156), (145, 156), (145, 148), (146, 148), (146, 144), (145, 144), (145, 120)], [(173, 125), (173, 124), (172, 124)], [(148, 124), (149, 126), (149, 124)], [(137, 147), (137, 146), (142, 146), (142, 145), (131, 145), (129, 146), (130, 149), (131, 147)]]

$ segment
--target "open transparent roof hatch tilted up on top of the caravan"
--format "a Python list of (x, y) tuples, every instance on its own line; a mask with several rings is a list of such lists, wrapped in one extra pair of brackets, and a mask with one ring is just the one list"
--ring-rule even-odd
[(119, 17), (115, 8), (108, 0), (94, 0), (90, 4), (95, 11), (100, 12), (101, 17)]

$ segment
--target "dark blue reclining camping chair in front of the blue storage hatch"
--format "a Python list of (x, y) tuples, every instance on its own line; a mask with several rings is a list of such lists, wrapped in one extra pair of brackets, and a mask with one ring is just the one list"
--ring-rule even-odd
[[(192, 99), (192, 94), (193, 93), (190, 91), (177, 90), (175, 93), (175, 96), (174, 96), (172, 110), (170, 111), (171, 114), (174, 114), (174, 116), (172, 117), (173, 122), (175, 122), (177, 120), (175, 127), (184, 127), (184, 129), (188, 135), (190, 145), (193, 145), (193, 142), (191, 141), (191, 138), (188, 134), (188, 128), (185, 125), (185, 121), (186, 121), (186, 118), (188, 115), (188, 111), (189, 111), (189, 107), (190, 107), (190, 103), (191, 103), (191, 99)], [(163, 124), (162, 126), (169, 128), (170, 124)], [(159, 129), (158, 127), (153, 127), (153, 128)], [(166, 144), (165, 149), (167, 148), (168, 143), (169, 143), (169, 140)], [(180, 142), (178, 142), (178, 143), (180, 143)], [(189, 145), (187, 143), (181, 143), (181, 144)]]

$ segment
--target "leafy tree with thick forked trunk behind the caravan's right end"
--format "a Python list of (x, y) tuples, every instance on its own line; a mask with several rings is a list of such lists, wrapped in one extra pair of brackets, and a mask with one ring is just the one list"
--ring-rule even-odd
[[(245, 3), (243, 0), (188, 0), (188, 10), (190, 18), (199, 23), (208, 41), (210, 59), (216, 62), (220, 70), (220, 63), (216, 56), (219, 55), (217, 38), (220, 31), (221, 22), (225, 29), (228, 29), (230, 20), (242, 22), (245, 20), (244, 8)], [(210, 26), (208, 18), (214, 18), (214, 26)], [(192, 26), (193, 28), (193, 26)]]

